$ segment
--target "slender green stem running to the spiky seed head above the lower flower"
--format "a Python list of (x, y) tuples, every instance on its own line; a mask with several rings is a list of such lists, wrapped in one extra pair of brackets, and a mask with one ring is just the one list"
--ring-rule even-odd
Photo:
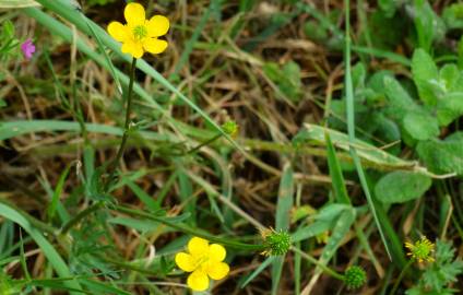
[(261, 250), (264, 249), (263, 245), (244, 244), (244, 243), (240, 243), (240, 241), (232, 240), (229, 238), (219, 238), (217, 236), (210, 235), (210, 234), (206, 234), (202, 231), (198, 231), (195, 228), (192, 228), (192, 227), (190, 227), (190, 226), (188, 226), (183, 223), (168, 221), (168, 220), (166, 220), (165, 216), (156, 216), (156, 215), (144, 213), (144, 212), (141, 212), (141, 211), (138, 211), (138, 210), (133, 210), (133, 209), (123, 206), (123, 205), (115, 205), (112, 209), (118, 211), (118, 212), (121, 212), (121, 213), (126, 213), (126, 214), (130, 214), (130, 215), (136, 215), (136, 216), (140, 216), (140, 217), (152, 220), (152, 221), (162, 223), (164, 225), (167, 225), (171, 228), (178, 229), (178, 231), (180, 231), (185, 234), (201, 237), (201, 238), (207, 239), (210, 241), (214, 241), (214, 243), (222, 244), (224, 246), (228, 246), (230, 248), (249, 250), (249, 251), (261, 251)]

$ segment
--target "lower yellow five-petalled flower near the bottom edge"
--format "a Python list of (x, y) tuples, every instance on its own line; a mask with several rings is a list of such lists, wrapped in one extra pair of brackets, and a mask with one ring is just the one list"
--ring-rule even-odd
[(209, 245), (207, 240), (193, 237), (188, 243), (188, 251), (177, 253), (175, 262), (181, 270), (191, 272), (187, 284), (193, 291), (209, 288), (209, 278), (222, 280), (228, 274), (229, 267), (223, 262), (226, 256), (223, 246)]

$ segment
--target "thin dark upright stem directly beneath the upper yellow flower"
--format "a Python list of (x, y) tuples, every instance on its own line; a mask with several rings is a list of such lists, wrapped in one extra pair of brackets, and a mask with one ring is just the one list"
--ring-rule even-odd
[(105, 191), (108, 191), (109, 185), (111, 184), (115, 174), (116, 168), (120, 160), (122, 158), (123, 151), (126, 150), (127, 139), (129, 138), (129, 131), (130, 131), (130, 113), (132, 109), (132, 92), (133, 92), (133, 81), (135, 80), (135, 69), (136, 69), (136, 58), (132, 58), (132, 64), (130, 67), (130, 81), (129, 81), (129, 88), (127, 91), (127, 108), (126, 108), (126, 122), (123, 125), (123, 135), (122, 140), (120, 141), (119, 150), (117, 152), (117, 155), (115, 160), (109, 164), (108, 173), (109, 178), (107, 179), (105, 184)]

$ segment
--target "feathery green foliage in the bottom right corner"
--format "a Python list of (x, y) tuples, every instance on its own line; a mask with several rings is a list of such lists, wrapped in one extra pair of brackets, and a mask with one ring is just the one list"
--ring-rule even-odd
[(458, 290), (450, 287), (463, 273), (463, 261), (454, 258), (455, 249), (450, 241), (438, 240), (436, 261), (425, 268), (418, 283), (407, 290), (407, 295), (417, 294), (454, 294)]

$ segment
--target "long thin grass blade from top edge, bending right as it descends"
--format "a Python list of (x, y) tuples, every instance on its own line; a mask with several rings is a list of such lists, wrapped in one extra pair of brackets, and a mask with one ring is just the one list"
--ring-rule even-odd
[(373, 215), (375, 222), (378, 227), (378, 232), (381, 236), (382, 244), (384, 245), (385, 251), (388, 252), (389, 258), (391, 259), (391, 250), (389, 249), (388, 241), (385, 239), (381, 221), (378, 219), (378, 214), (376, 212), (375, 203), (371, 198), (370, 190), (368, 188), (368, 182), (365, 176), (364, 168), (361, 167), (360, 158), (357, 155), (357, 151), (355, 149), (355, 109), (354, 109), (354, 88), (352, 82), (352, 73), (351, 73), (351, 1), (344, 0), (344, 10), (345, 10), (345, 45), (344, 45), (344, 67), (345, 67), (345, 95), (346, 95), (346, 116), (347, 116), (347, 132), (348, 139), (351, 143), (351, 155), (354, 161), (354, 165), (357, 169), (358, 178), (360, 179), (361, 188), (367, 198), (367, 202), (370, 206), (371, 214)]

